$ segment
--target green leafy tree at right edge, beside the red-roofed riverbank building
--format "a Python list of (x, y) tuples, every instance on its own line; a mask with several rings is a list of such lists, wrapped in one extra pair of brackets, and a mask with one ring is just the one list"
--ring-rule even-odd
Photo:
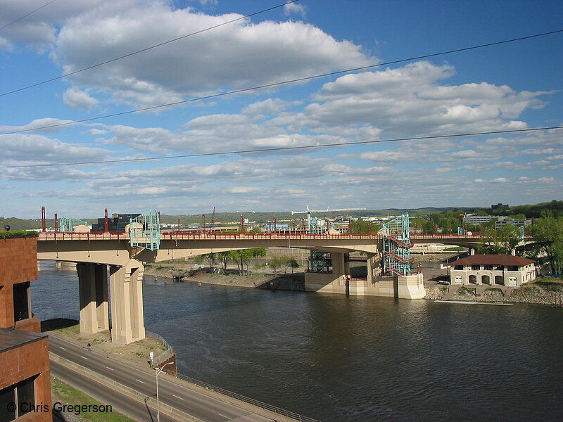
[(530, 227), (531, 233), (540, 243), (548, 257), (551, 272), (561, 274), (563, 270), (563, 217), (555, 218), (552, 213), (544, 213)]

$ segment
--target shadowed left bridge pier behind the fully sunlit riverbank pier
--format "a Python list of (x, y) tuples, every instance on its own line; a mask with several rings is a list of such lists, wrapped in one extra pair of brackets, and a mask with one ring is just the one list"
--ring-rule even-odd
[(108, 267), (76, 264), (80, 295), (80, 333), (94, 334), (109, 329)]

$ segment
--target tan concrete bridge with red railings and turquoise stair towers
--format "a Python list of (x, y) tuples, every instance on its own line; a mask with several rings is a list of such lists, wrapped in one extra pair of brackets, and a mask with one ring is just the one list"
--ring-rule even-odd
[[(139, 218), (139, 217), (137, 217)], [(106, 212), (107, 219), (107, 212)], [(375, 295), (404, 299), (424, 298), (422, 274), (411, 274), (410, 247), (415, 243), (450, 243), (476, 247), (482, 234), (410, 234), (408, 216), (384, 224), (376, 234), (340, 234), (296, 230), (247, 233), (160, 231), (158, 214), (150, 212), (131, 221), (124, 231), (92, 232), (65, 219), (65, 231), (44, 231), (37, 238), (39, 260), (77, 262), (80, 291), (80, 332), (111, 329), (114, 343), (144, 338), (142, 281), (144, 264), (212, 252), (248, 248), (289, 247), (311, 251), (305, 272), (305, 290), (348, 295)], [(524, 241), (524, 239), (522, 239)], [(350, 252), (367, 255), (367, 279), (350, 279)], [(108, 276), (111, 319), (108, 309)]]

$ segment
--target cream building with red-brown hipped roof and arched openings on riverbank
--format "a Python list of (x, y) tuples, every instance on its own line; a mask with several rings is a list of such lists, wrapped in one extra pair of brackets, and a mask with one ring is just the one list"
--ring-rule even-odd
[(469, 255), (450, 262), (450, 283), (519, 287), (536, 279), (535, 263), (514, 255)]

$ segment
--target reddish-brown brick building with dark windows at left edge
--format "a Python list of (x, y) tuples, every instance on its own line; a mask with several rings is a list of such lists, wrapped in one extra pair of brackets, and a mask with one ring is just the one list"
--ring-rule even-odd
[(52, 421), (48, 338), (31, 310), (35, 279), (37, 239), (0, 239), (0, 422)]

